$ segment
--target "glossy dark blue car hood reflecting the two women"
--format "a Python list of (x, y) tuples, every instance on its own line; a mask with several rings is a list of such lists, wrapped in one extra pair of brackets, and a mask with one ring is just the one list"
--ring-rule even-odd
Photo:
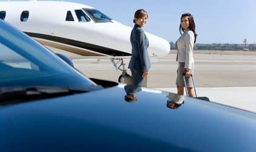
[[(251, 151), (255, 113), (143, 88), (129, 103), (123, 85), (0, 107), (0, 150)], [(1, 150), (1, 151), (2, 151)]]

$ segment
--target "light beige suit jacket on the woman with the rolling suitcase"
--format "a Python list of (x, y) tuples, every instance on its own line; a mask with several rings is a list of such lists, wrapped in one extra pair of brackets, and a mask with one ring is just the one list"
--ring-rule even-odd
[(176, 61), (184, 62), (185, 69), (192, 69), (194, 65), (193, 48), (195, 36), (193, 31), (185, 31), (177, 40), (176, 46), (178, 49)]

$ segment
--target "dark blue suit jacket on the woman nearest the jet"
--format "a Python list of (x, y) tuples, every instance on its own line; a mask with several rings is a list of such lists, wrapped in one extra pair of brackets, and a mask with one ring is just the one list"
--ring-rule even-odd
[(130, 34), (130, 43), (132, 43), (132, 57), (130, 58), (128, 68), (141, 72), (148, 71), (151, 67), (149, 54), (147, 52), (149, 40), (143, 29), (136, 24)]

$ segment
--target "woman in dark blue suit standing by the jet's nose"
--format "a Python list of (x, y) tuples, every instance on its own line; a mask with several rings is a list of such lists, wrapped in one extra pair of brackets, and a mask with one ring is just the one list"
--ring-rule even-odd
[(132, 44), (132, 57), (128, 68), (132, 72), (133, 84), (127, 84), (124, 89), (127, 95), (126, 101), (136, 101), (135, 93), (141, 90), (141, 86), (145, 77), (149, 74), (151, 67), (147, 48), (149, 40), (143, 31), (143, 27), (147, 22), (147, 11), (141, 9), (134, 14), (133, 22), (135, 23), (130, 34), (130, 43)]

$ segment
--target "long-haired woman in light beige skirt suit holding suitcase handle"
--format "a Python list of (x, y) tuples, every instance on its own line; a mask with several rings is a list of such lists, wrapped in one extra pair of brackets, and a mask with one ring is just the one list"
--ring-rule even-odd
[(176, 80), (177, 90), (179, 95), (184, 94), (183, 74), (185, 74), (189, 97), (195, 97), (192, 78), (190, 77), (190, 75), (194, 74), (193, 48), (197, 39), (195, 22), (192, 14), (184, 13), (181, 15), (180, 34), (181, 36), (176, 42), (178, 50), (176, 58), (176, 61), (178, 62)]

